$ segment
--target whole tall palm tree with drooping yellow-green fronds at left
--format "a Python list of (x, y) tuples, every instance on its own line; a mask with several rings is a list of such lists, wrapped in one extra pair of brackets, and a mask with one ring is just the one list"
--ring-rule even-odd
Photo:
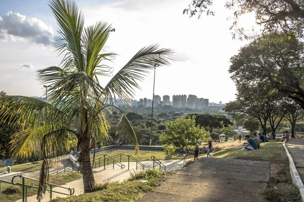
[[(60, 67), (53, 66), (38, 71), (42, 84), (51, 85), (48, 102), (25, 96), (0, 98), (0, 117), (12, 125), (22, 124), (23, 130), (11, 138), (14, 156), (42, 155), (44, 163), (40, 174), (40, 201), (48, 181), (47, 157), (66, 153), (68, 137), (74, 135), (81, 153), (79, 162), (83, 174), (84, 191), (90, 192), (95, 182), (91, 167), (90, 149), (95, 138), (107, 138), (109, 129), (107, 102), (112, 98), (130, 100), (138, 81), (153, 70), (155, 64), (169, 65), (173, 52), (159, 45), (143, 47), (114, 75), (106, 86), (98, 77), (110, 76), (111, 68), (105, 65), (115, 54), (101, 53), (107, 41), (111, 25), (106, 22), (84, 27), (84, 17), (75, 2), (51, 0), (49, 6), (59, 25), (59, 33), (65, 43), (58, 47), (64, 54)], [(103, 63), (103, 64), (102, 64)], [(12, 112), (13, 113), (9, 113)], [(120, 134), (130, 142), (138, 143), (130, 122), (122, 115), (118, 125)]]

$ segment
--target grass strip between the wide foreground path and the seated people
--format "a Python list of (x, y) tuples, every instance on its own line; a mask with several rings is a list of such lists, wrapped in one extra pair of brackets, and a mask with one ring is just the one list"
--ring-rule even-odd
[(215, 153), (210, 153), (212, 157), (227, 159), (244, 159), (251, 161), (269, 161), (274, 163), (284, 163), (288, 161), (285, 149), (280, 141), (269, 141), (261, 143), (260, 148), (255, 150), (241, 151), (243, 148), (231, 148)]

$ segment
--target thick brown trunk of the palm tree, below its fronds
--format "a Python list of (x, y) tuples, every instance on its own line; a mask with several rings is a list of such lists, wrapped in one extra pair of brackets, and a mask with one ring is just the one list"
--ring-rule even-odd
[(92, 191), (92, 186), (95, 183), (90, 157), (91, 141), (89, 138), (83, 138), (82, 140), (83, 141), (80, 140), (81, 153), (79, 156), (79, 162), (80, 170), (83, 174), (84, 190), (85, 193), (88, 193)]

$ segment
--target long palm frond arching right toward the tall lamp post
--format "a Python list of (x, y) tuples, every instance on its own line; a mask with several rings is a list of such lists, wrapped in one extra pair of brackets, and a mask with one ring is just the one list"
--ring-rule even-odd
[(171, 49), (159, 48), (158, 44), (141, 48), (105, 86), (108, 98), (130, 100), (134, 97), (134, 88), (140, 89), (138, 81), (143, 81), (155, 64), (170, 65), (172, 57)]

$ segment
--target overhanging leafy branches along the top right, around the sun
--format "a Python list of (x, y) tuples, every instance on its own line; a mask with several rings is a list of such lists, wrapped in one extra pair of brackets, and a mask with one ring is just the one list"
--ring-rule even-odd
[[(199, 18), (203, 13), (215, 15), (212, 10), (213, 0), (189, 0), (188, 8), (183, 13), (190, 17), (197, 15)], [(301, 0), (226, 0), (223, 5), (234, 11), (234, 21), (231, 29), (235, 37), (248, 38), (263, 33), (282, 30), (287, 35), (293, 33), (303, 36), (304, 29), (304, 5)], [(260, 32), (246, 33), (239, 26), (239, 19), (243, 14), (254, 12), (255, 22), (260, 27)]]

